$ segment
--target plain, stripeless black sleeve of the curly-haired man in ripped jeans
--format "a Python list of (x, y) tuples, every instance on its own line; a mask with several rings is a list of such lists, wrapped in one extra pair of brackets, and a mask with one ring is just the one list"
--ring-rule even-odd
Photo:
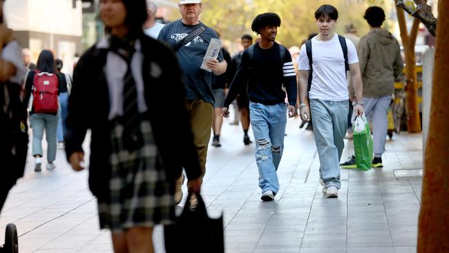
[(249, 55), (248, 51), (245, 50), (242, 54), (242, 59), (240, 60), (240, 64), (238, 64), (238, 68), (236, 71), (236, 75), (234, 76), (231, 85), (229, 86), (228, 95), (225, 98), (225, 103), (223, 107), (229, 108), (229, 104), (233, 100), (236, 99), (238, 93), (243, 87), (243, 84), (246, 84), (248, 81), (248, 73), (249, 73)]

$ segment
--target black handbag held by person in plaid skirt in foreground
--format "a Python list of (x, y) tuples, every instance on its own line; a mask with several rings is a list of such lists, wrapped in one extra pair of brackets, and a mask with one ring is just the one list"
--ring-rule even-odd
[(198, 207), (191, 209), (191, 195), (175, 224), (164, 227), (166, 253), (224, 253), (223, 216), (209, 218), (200, 194), (196, 195)]

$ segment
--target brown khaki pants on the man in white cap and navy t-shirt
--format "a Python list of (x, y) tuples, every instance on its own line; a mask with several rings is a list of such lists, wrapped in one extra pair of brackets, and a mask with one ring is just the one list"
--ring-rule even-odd
[[(211, 139), (213, 106), (202, 100), (191, 100), (187, 104), (187, 110), (190, 112), (193, 144), (198, 152), (201, 177), (204, 177), (204, 174), (206, 174), (207, 148), (209, 147), (209, 140)], [(180, 180), (178, 180), (178, 182), (180, 182)]]

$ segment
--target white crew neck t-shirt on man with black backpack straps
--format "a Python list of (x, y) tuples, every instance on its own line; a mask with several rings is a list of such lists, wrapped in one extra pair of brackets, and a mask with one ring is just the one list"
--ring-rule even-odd
[[(346, 39), (346, 45), (348, 64), (359, 62), (354, 44)], [(337, 34), (329, 41), (318, 41), (316, 37), (312, 38), (312, 62), (314, 71), (309, 99), (334, 102), (348, 100), (345, 57)], [(308, 71), (309, 69), (309, 58), (303, 44), (299, 53), (298, 70)]]

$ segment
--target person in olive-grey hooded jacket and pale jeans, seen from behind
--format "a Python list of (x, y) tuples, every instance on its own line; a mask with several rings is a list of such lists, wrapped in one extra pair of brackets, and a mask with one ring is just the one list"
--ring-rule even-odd
[[(377, 6), (367, 8), (365, 16), (370, 31), (359, 42), (359, 65), (363, 81), (365, 116), (372, 122), (374, 158), (372, 167), (381, 168), (382, 154), (388, 128), (388, 105), (394, 93), (394, 78), (399, 77), (403, 61), (399, 43), (393, 35), (381, 28), (385, 12)], [(355, 156), (341, 164), (344, 168), (355, 168)]]

